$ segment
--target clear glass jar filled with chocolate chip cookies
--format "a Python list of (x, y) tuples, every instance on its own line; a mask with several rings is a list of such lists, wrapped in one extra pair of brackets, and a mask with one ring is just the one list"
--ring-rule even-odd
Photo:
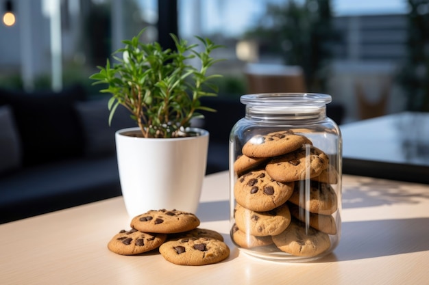
[(328, 94), (241, 96), (230, 134), (230, 235), (267, 260), (308, 261), (341, 236), (342, 139)]

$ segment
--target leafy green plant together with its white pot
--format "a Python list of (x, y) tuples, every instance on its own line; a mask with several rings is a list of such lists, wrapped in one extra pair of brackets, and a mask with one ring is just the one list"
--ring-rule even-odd
[[(140, 31), (114, 54), (116, 63), (98, 66), (90, 79), (107, 84), (101, 92), (108, 101), (109, 124), (123, 105), (136, 121), (135, 128), (117, 131), (117, 159), (125, 206), (134, 217), (153, 208), (177, 208), (195, 213), (206, 172), (208, 132), (191, 126), (201, 106), (200, 98), (217, 96), (208, 74), (220, 59), (210, 53), (220, 46), (208, 38), (196, 37), (188, 44), (171, 34), (176, 49), (162, 49), (158, 42), (141, 42)], [(199, 59), (200, 67), (189, 64)]]

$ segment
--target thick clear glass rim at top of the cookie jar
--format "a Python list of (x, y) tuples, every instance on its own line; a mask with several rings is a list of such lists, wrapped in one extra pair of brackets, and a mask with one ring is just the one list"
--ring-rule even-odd
[(246, 94), (240, 97), (245, 105), (326, 105), (332, 97), (322, 93), (259, 93)]

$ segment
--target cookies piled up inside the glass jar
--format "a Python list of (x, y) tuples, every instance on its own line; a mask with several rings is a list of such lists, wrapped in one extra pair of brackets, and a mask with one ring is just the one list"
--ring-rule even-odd
[(232, 240), (258, 252), (317, 256), (336, 235), (338, 172), (304, 135), (277, 131), (245, 142), (234, 162)]

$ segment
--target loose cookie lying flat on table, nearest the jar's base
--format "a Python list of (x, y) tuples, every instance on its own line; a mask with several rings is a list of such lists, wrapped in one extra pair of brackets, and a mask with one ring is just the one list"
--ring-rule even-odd
[(167, 241), (159, 251), (166, 260), (179, 265), (212, 264), (230, 256), (230, 248), (223, 241), (204, 237)]

